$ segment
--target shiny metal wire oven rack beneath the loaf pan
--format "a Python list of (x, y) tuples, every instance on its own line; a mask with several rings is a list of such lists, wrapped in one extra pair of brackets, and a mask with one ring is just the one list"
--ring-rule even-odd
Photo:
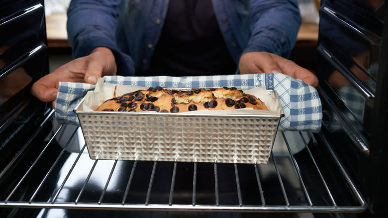
[[(287, 152), (272, 152), (269, 163), (259, 165), (91, 160), (86, 144), (78, 153), (67, 151), (77, 129), (63, 148), (55, 143), (65, 129), (61, 125), (50, 133), (27, 166), (18, 158), (26, 155), (31, 141), (1, 169), (0, 188), (5, 191), (0, 207), (326, 213), (361, 213), (367, 207), (322, 133), (308, 133), (307, 141), (298, 132), (304, 148), (293, 153), (294, 140), (288, 139), (289, 132), (280, 132), (277, 137)], [(315, 152), (322, 146), (331, 156), (323, 161)], [(10, 181), (6, 175), (13, 174), (19, 176)], [(137, 180), (143, 174), (148, 179)]]

